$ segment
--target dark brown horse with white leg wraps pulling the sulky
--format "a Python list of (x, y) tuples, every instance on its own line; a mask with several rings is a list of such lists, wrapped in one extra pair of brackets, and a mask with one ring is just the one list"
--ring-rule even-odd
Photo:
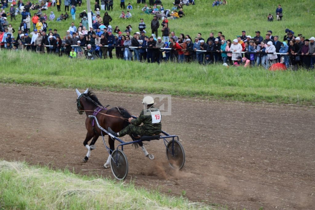
[[(91, 150), (95, 149), (95, 142), (99, 138), (100, 135), (107, 135), (107, 133), (100, 130), (97, 127), (96, 122), (89, 118), (89, 115), (94, 115), (99, 122), (100, 127), (107, 130), (108, 127), (111, 127), (115, 132), (119, 132), (123, 128), (129, 125), (128, 118), (131, 117), (131, 114), (122, 107), (114, 107), (108, 109), (107, 106), (104, 107), (100, 101), (97, 99), (95, 94), (89, 91), (89, 88), (86, 89), (84, 93), (80, 93), (77, 89), (77, 111), (80, 115), (84, 112), (86, 114), (85, 119), (85, 127), (88, 130), (86, 133), (86, 138), (83, 142), (83, 145), (88, 149), (88, 153), (84, 157), (83, 161), (87, 162), (89, 160), (89, 156)], [(106, 114), (106, 115), (104, 115)], [(127, 119), (127, 120), (126, 120)], [(93, 138), (93, 139), (92, 139)], [(134, 139), (131, 136), (132, 139)], [(90, 145), (88, 145), (89, 140), (91, 140)], [(108, 144), (110, 148), (110, 154), (113, 150), (115, 150), (114, 140), (108, 136)], [(143, 147), (142, 142), (138, 142), (138, 144)], [(143, 147), (144, 148), (144, 147)], [(104, 168), (108, 168), (110, 166), (111, 155), (108, 156), (106, 163), (104, 164)]]

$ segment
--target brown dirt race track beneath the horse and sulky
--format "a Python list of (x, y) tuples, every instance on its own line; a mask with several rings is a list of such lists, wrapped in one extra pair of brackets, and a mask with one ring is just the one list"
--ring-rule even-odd
[[(103, 105), (123, 106), (135, 115), (142, 109), (142, 95), (95, 94)], [(108, 155), (100, 138), (89, 161), (82, 162), (86, 116), (76, 111), (74, 89), (0, 84), (0, 96), (1, 159), (114, 179), (111, 169), (102, 168)], [(162, 122), (164, 131), (180, 136), (185, 166), (170, 169), (162, 140), (146, 145), (153, 161), (128, 145), (127, 182), (167, 195), (186, 192), (191, 201), (230, 209), (314, 209), (314, 107), (173, 97), (172, 116)]]

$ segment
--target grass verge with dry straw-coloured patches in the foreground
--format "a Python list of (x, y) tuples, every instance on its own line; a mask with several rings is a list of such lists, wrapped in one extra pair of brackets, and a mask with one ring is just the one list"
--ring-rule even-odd
[[(184, 192), (183, 192), (184, 194)], [(217, 209), (68, 170), (0, 161), (0, 209)], [(225, 209), (220, 207), (220, 209)]]

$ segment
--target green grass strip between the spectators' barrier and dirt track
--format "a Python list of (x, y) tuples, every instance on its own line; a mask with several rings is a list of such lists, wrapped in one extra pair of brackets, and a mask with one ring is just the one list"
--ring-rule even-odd
[[(0, 82), (92, 88), (208, 99), (315, 105), (314, 71), (266, 71), (221, 65), (71, 60), (3, 51)], [(23, 65), (25, 63), (32, 65)], [(21, 67), (21, 65), (23, 67)]]

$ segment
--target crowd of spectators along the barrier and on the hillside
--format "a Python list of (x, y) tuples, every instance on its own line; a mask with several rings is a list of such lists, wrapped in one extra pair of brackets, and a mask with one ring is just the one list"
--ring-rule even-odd
[[(60, 6), (61, 1), (54, 0), (53, 3)], [(186, 3), (193, 5), (194, 2), (189, 0)], [(29, 2), (26, 3), (26, 5), (29, 4)], [(184, 16), (183, 5), (185, 3), (175, 2), (175, 8), (172, 8), (180, 8), (182, 12), (180, 14), (182, 15), (178, 18)], [(110, 9), (107, 4), (105, 6), (108, 10)], [(11, 4), (12, 7), (14, 7), (13, 4)], [(128, 7), (130, 10), (133, 9), (131, 4), (128, 4)], [(71, 58), (83, 57), (91, 60), (106, 59), (108, 57), (112, 59), (114, 52), (117, 59), (148, 63), (168, 61), (179, 63), (198, 62), (201, 65), (224, 63), (225, 65), (234, 66), (244, 65), (245, 67), (261, 65), (266, 69), (273, 64), (280, 63), (284, 68), (292, 70), (297, 70), (300, 66), (307, 69), (314, 68), (314, 37), (305, 39), (302, 34), (295, 35), (295, 32), (289, 29), (285, 30), (286, 34), (283, 40), (281, 40), (282, 37), (273, 36), (271, 30), (266, 32), (265, 39), (261, 36), (260, 31), (255, 31), (253, 37), (246, 35), (246, 31), (242, 31), (241, 35), (231, 39), (227, 39), (222, 32), (218, 32), (216, 37), (213, 32), (210, 32), (206, 40), (201, 33), (196, 34), (196, 36), (180, 33), (176, 36), (175, 31), (169, 28), (172, 12), (174, 13), (176, 10), (157, 12), (163, 8), (163, 5), (154, 4), (153, 7), (154, 9), (159, 8), (152, 10), (152, 12), (155, 11), (154, 13), (150, 13), (154, 15), (150, 24), (151, 33), (147, 32), (149, 29), (143, 18), (140, 19), (139, 31), (133, 31), (131, 25), (127, 26), (125, 31), (120, 31), (118, 26), (113, 29), (109, 25), (112, 17), (106, 11), (103, 18), (101, 18), (100, 13), (98, 13), (100, 10), (99, 2), (95, 2), (95, 14), (97, 15), (94, 14), (93, 27), (90, 27), (89, 31), (87, 30), (87, 14), (84, 10), (79, 14), (81, 18), (79, 26), (75, 26), (72, 22), (69, 30), (59, 34), (57, 29), (47, 29), (46, 21), (56, 19), (53, 12), (50, 13), (49, 17), (45, 14), (38, 15), (38, 13), (35, 13), (30, 18), (29, 10), (26, 10), (27, 7), (24, 6), (20, 13), (22, 21), (16, 39), (12, 36), (15, 30), (7, 21), (6, 14), (4, 12), (0, 13), (2, 27), (0, 30), (0, 47), (14, 50), (26, 49), (38, 53), (53, 53)], [(71, 8), (75, 8), (75, 4), (71, 5)], [(34, 7), (34, 9), (37, 8)], [(101, 9), (103, 10), (103, 7)], [(147, 5), (141, 10), (147, 11)], [(24, 11), (25, 13), (23, 13)], [(127, 14), (122, 12), (120, 18), (126, 18), (124, 16)], [(160, 14), (160, 16), (157, 14)], [(11, 16), (11, 20), (12, 18)], [(75, 14), (72, 19), (75, 19)], [(62, 20), (65, 20), (65, 18)], [(57, 21), (60, 20), (57, 19)], [(31, 23), (33, 24), (32, 31)]]

